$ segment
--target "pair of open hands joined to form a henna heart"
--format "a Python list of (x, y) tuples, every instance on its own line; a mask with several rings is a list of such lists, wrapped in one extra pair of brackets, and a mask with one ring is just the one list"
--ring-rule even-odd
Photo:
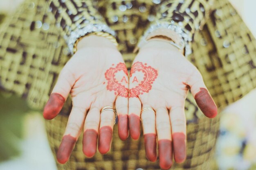
[[(83, 152), (87, 157), (110, 150), (116, 108), (118, 133), (122, 140), (130, 131), (132, 139), (144, 132), (146, 157), (157, 159), (168, 169), (173, 156), (177, 163), (186, 159), (185, 98), (189, 89), (202, 112), (210, 118), (217, 107), (204, 85), (201, 74), (171, 44), (152, 40), (141, 47), (128, 78), (124, 60), (110, 40), (91, 35), (83, 38), (77, 52), (62, 69), (45, 105), (43, 116), (53, 119), (72, 96), (72, 111), (57, 153), (65, 163), (83, 129)], [(152, 110), (144, 108), (150, 107)], [(99, 136), (99, 138), (98, 138)]]

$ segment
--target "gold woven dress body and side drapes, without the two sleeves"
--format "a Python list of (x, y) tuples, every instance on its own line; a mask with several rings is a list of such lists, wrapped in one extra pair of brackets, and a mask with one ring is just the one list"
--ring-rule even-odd
[[(34, 7), (31, 6), (31, 2), (34, 3)], [(121, 3), (121, 1), (114, 0), (109, 2)], [(111, 3), (106, 7), (108, 5), (112, 7)], [(144, 2), (136, 3), (141, 5)], [(144, 5), (150, 7), (149, 9), (152, 7), (148, 4)], [(134, 4), (133, 7), (137, 6)], [(256, 87), (256, 40), (227, 0), (217, 0), (213, 9), (203, 30), (195, 32), (192, 43), (193, 54), (188, 59), (202, 73), (205, 84), (221, 110)], [(116, 14), (121, 17), (121, 12), (117, 11), (112, 10), (111, 13), (111, 8), (105, 11), (107, 22), (110, 22), (108, 18), (111, 17), (110, 15)], [(153, 10), (150, 12), (153, 13)], [(124, 12), (127, 16), (128, 13), (128, 10)], [(131, 38), (137, 40), (136, 38), (143, 33), (145, 27), (135, 27), (135, 25), (143, 18), (147, 18), (148, 14), (148, 12), (130, 13), (129, 22), (111, 24), (112, 29), (117, 31), (117, 40), (121, 42), (120, 48), (124, 54), (127, 54), (128, 67), (134, 56), (130, 55), (129, 51), (132, 51), (132, 47), (135, 46), (128, 44), (129, 37), (134, 32), (135, 36)], [(36, 108), (43, 108), (58, 73), (70, 58), (61, 36), (62, 29), (56, 27), (54, 18), (52, 13), (48, 12), (48, 6), (44, 0), (27, 0), (14, 16), (7, 18), (4, 25), (1, 25), (1, 88), (26, 98), (29, 105)], [(68, 98), (61, 114), (52, 121), (46, 121), (49, 142), (54, 155), (65, 130), (70, 106), (71, 101)], [(219, 117), (205, 118), (196, 106), (191, 93), (186, 99), (185, 109), (188, 139), (187, 160), (179, 165), (174, 164), (173, 168), (178, 170), (209, 169)], [(97, 153), (92, 159), (87, 159), (83, 155), (80, 138), (70, 161), (65, 165), (58, 164), (59, 169), (159, 169), (158, 163), (146, 160), (142, 137), (138, 141), (129, 138), (122, 142), (118, 139), (116, 128), (110, 153), (106, 155)]]

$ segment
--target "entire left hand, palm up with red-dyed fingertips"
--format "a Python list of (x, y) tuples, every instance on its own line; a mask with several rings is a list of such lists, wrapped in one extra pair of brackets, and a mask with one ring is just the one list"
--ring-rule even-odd
[[(90, 35), (81, 39), (77, 52), (63, 67), (52, 90), (43, 116), (53, 119), (61, 111), (67, 96), (72, 97), (72, 111), (57, 152), (59, 163), (66, 163), (83, 130), (83, 152), (94, 156), (110, 150), (116, 108), (119, 136), (128, 137), (128, 72), (117, 47), (107, 38)], [(98, 139), (99, 136), (99, 139)]]

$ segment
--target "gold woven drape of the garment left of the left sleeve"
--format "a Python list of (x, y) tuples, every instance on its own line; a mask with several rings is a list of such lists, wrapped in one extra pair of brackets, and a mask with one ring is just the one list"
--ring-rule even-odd
[(31, 107), (43, 108), (70, 56), (46, 2), (33, 3), (25, 1), (1, 25), (0, 81), (3, 89), (27, 98)]

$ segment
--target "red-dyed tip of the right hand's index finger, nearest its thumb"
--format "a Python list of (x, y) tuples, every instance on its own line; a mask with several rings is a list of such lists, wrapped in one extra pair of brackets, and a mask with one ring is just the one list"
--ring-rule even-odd
[(182, 163), (186, 159), (186, 136), (184, 133), (176, 132), (173, 138), (173, 154), (177, 163)]

